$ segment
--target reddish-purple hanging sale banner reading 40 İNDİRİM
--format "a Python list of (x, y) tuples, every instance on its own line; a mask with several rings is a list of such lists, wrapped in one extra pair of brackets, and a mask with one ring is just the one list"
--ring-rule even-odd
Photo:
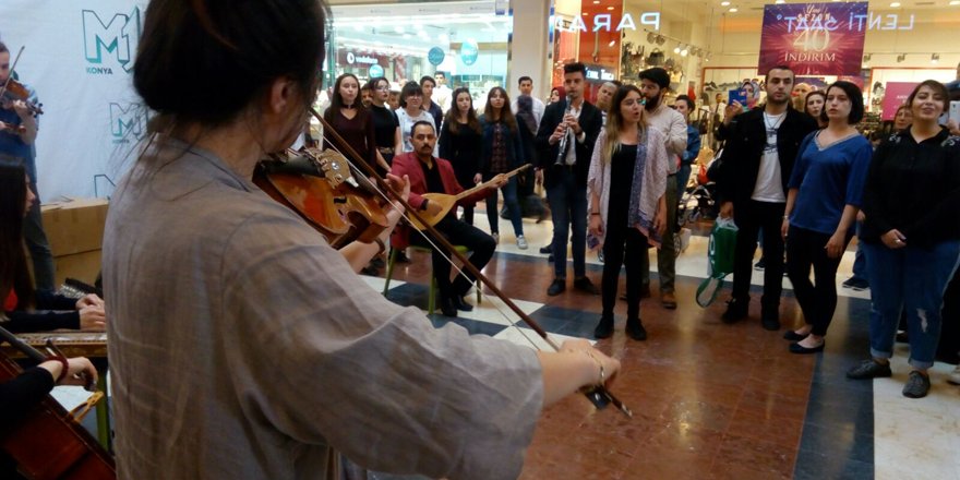
[(766, 5), (757, 69), (790, 65), (797, 75), (856, 75), (867, 17), (867, 2)]

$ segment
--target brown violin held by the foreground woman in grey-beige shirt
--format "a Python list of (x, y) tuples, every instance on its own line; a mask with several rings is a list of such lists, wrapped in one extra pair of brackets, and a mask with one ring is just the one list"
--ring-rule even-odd
[(389, 227), (386, 213), (362, 176), (333, 151), (287, 149), (261, 161), (253, 183), (323, 235), (335, 249), (373, 242)]

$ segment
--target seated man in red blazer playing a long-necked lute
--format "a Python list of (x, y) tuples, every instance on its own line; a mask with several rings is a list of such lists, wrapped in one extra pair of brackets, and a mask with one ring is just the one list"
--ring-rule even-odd
[[(410, 143), (413, 144), (413, 152), (394, 157), (391, 173), (400, 178), (408, 176), (410, 179), (410, 206), (424, 212), (430, 217), (434, 217), (440, 215), (443, 207), (440, 203), (430, 202), (422, 195), (424, 193), (456, 195), (463, 192), (464, 188), (457, 183), (457, 177), (451, 163), (433, 156), (433, 147), (436, 145), (436, 132), (433, 130), (433, 125), (427, 121), (418, 121), (413, 123), (410, 132)], [(506, 177), (503, 175), (494, 177), (493, 180), (495, 181), (489, 187), (490, 190), (499, 189), (506, 183)], [(489, 190), (481, 190), (461, 199), (457, 203), (470, 205), (478, 200), (485, 199), (489, 194)], [(434, 227), (451, 243), (464, 245), (468, 251), (473, 252), (470, 255), (470, 263), (477, 269), (483, 269), (487, 262), (490, 262), (490, 259), (493, 256), (496, 242), (493, 241), (493, 237), (483, 230), (468, 225), (466, 221), (458, 220), (456, 211), (456, 208), (452, 208)], [(391, 244), (395, 248), (404, 249), (410, 242), (433, 249), (433, 276), (436, 278), (436, 288), (440, 290), (440, 311), (445, 316), (457, 316), (457, 310), (465, 312), (473, 310), (473, 305), (464, 300), (464, 295), (467, 293), (477, 280), (473, 275), (465, 271), (465, 275), (458, 275), (454, 281), (451, 281), (451, 264), (444, 257), (444, 254), (428, 243), (422, 236), (413, 235), (408, 238), (409, 233), (407, 229), (397, 228), (391, 238)]]

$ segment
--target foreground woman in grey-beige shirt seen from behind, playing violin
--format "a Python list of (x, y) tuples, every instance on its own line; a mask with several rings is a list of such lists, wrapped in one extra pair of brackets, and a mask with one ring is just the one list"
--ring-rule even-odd
[(516, 478), (541, 409), (620, 368), (584, 340), (543, 353), (434, 328), (251, 183), (313, 101), (324, 12), (147, 7), (133, 81), (166, 127), (104, 242), (120, 478), (334, 478), (334, 447), (381, 471)]

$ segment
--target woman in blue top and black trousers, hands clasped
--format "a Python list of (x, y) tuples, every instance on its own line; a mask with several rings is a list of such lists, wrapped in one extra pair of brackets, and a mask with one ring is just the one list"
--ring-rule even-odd
[[(803, 310), (804, 325), (788, 331), (790, 351), (824, 349), (824, 337), (837, 308), (837, 267), (853, 237), (863, 184), (873, 149), (854, 125), (863, 118), (863, 95), (856, 85), (838, 81), (827, 88), (820, 119), (827, 127), (800, 146), (787, 184), (782, 233), (787, 240), (787, 275)], [(814, 280), (809, 279), (811, 267)]]

